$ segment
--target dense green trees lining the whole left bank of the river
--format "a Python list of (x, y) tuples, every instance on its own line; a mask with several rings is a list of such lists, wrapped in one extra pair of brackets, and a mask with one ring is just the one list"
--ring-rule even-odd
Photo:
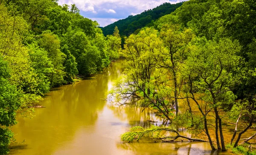
[(119, 58), (118, 29), (105, 37), (98, 25), (56, 0), (0, 0), (1, 155), (8, 153), (17, 110), (26, 116), (52, 87)]

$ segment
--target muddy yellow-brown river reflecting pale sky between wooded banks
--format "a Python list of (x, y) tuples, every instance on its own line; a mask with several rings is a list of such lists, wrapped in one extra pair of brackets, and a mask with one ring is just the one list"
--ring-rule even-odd
[[(124, 61), (113, 62), (102, 74), (53, 89), (35, 109), (33, 118), (17, 116), (12, 127), (17, 142), (11, 155), (204, 155), (208, 143), (122, 143), (120, 135), (133, 126), (163, 122), (150, 109), (108, 104), (107, 92), (124, 71)], [(158, 123), (158, 125), (159, 125)], [(157, 123), (154, 123), (157, 125)]]

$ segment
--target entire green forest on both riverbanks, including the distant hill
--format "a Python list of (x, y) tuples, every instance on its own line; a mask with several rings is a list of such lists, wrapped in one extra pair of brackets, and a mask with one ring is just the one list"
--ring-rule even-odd
[(102, 29), (75, 4), (0, 0), (0, 154), (15, 143), (17, 112), (31, 117), (52, 88), (100, 73), (119, 57), (125, 71), (110, 95), (167, 120), (133, 126), (121, 141), (198, 141), (256, 154), (255, 0), (164, 3)]

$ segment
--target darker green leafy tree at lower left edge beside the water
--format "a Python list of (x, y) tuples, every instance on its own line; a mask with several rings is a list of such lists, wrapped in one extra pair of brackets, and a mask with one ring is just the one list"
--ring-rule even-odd
[(16, 111), (21, 106), (22, 94), (8, 81), (10, 69), (0, 57), (0, 154), (9, 153), (8, 146), (14, 136), (9, 126), (15, 125)]

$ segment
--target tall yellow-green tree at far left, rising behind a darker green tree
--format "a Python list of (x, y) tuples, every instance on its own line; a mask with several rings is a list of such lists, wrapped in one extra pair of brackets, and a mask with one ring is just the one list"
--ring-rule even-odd
[(28, 49), (23, 46), (22, 39), (28, 26), (20, 16), (10, 16), (8, 10), (0, 4), (0, 57), (8, 62), (9, 82), (24, 92), (22, 106), (27, 107), (41, 99), (38, 90), (39, 79), (31, 67)]

